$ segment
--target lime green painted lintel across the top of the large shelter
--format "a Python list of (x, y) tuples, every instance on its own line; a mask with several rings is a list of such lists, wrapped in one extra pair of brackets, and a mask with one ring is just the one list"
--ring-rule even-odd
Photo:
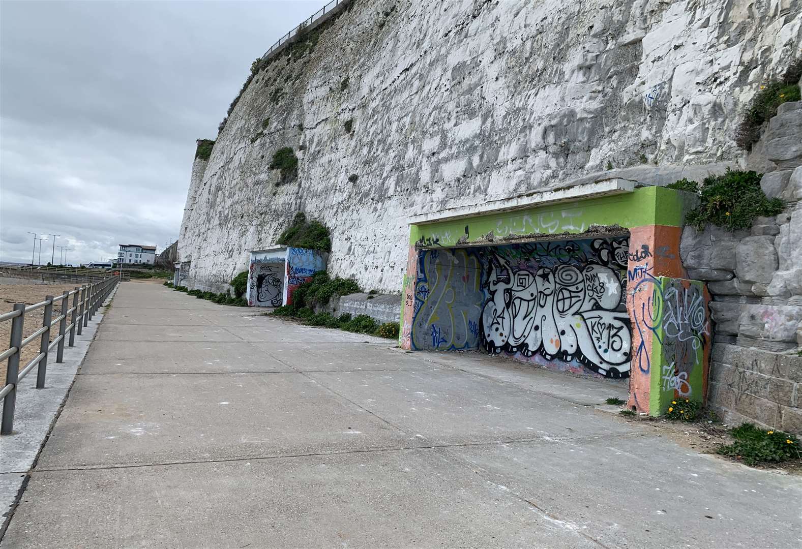
[(410, 244), (421, 240), (423, 246), (451, 247), (484, 240), (489, 232), (494, 238), (509, 235), (559, 234), (585, 232), (590, 225), (614, 225), (623, 228), (644, 225), (679, 227), (687, 208), (688, 193), (664, 187), (637, 188), (634, 192), (561, 202), (514, 212), (490, 213), (460, 220), (415, 224), (410, 227)]

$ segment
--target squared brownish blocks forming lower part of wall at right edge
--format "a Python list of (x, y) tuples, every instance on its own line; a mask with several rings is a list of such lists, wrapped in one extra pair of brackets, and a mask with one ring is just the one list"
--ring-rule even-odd
[(717, 344), (709, 405), (724, 422), (802, 434), (802, 357)]

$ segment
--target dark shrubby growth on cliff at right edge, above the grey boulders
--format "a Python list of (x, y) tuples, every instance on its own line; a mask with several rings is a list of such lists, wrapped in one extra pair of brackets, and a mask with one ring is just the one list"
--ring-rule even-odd
[(735, 143), (751, 149), (752, 143), (760, 139), (760, 129), (772, 116), (777, 114), (777, 107), (786, 101), (802, 99), (799, 81), (802, 78), (802, 58), (794, 59), (781, 79), (774, 79), (760, 86), (760, 91), (749, 102), (747, 111), (735, 131)]

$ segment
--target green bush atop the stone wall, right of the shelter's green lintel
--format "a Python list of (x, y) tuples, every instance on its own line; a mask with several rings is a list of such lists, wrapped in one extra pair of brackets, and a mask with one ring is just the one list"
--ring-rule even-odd
[(687, 213), (685, 222), (700, 231), (707, 224), (735, 231), (750, 228), (757, 216), (780, 214), (785, 204), (780, 199), (766, 197), (760, 188), (761, 176), (728, 169), (721, 176), (706, 177), (699, 186), (701, 204)]

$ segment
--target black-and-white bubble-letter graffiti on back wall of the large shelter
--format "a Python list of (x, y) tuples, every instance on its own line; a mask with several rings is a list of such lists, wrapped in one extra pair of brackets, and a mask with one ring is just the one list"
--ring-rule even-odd
[(576, 360), (628, 377), (631, 333), (621, 276), (627, 240), (488, 248), (481, 342), (493, 353)]

